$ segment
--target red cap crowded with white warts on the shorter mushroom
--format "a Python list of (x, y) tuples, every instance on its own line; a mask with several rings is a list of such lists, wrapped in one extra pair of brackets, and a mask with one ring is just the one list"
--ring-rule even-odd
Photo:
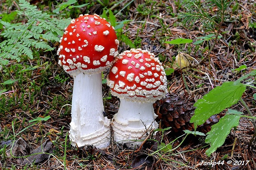
[(166, 94), (166, 74), (153, 53), (138, 49), (124, 51), (112, 65), (107, 83), (120, 99), (155, 102)]

